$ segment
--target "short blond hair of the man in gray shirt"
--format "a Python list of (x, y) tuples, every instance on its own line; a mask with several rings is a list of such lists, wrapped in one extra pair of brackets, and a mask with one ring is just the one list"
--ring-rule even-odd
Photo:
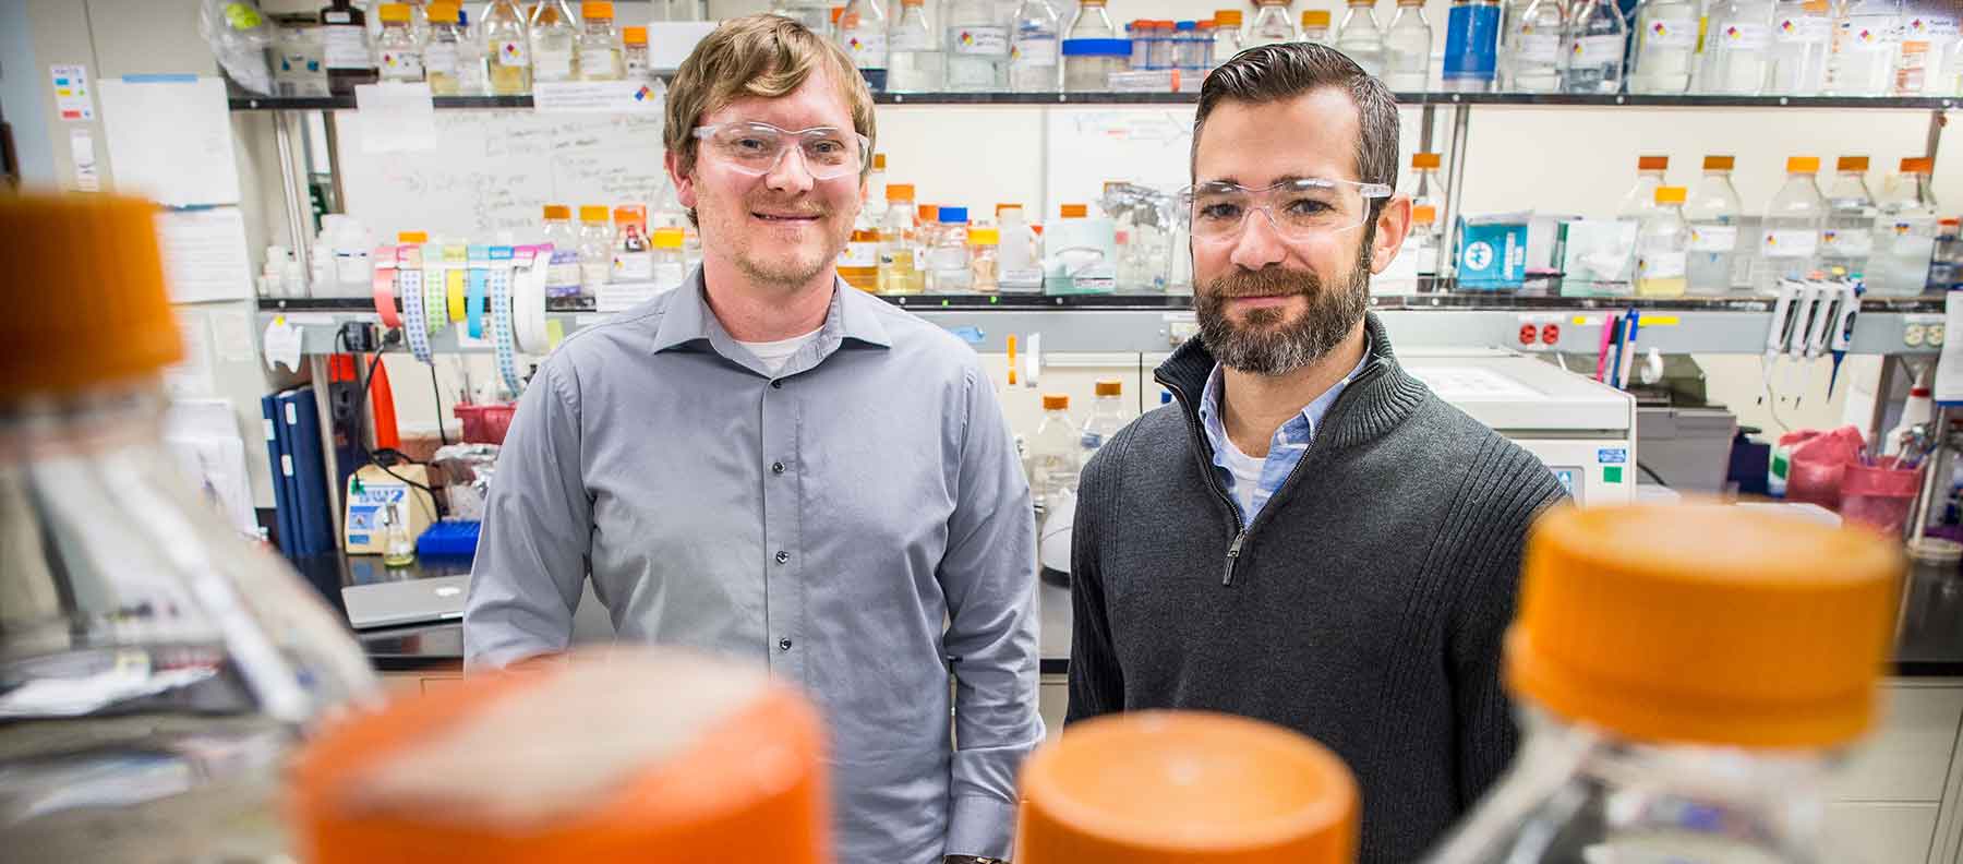
[[(779, 98), (822, 69), (852, 108), (852, 130), (877, 141), (872, 90), (844, 49), (783, 16), (748, 16), (722, 22), (675, 71), (667, 88), (667, 122), (662, 139), (681, 157), (681, 173), (695, 171), (695, 126), (703, 116), (744, 98)], [(868, 151), (860, 177), (872, 171)]]

